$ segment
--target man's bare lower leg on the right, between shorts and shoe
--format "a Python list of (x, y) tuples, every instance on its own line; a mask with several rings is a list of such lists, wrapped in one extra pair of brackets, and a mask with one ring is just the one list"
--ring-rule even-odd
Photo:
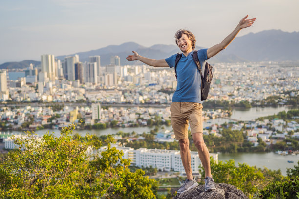
[(210, 168), (210, 154), (209, 150), (203, 140), (202, 133), (193, 133), (192, 134), (193, 142), (198, 150), (199, 159), (202, 163), (202, 166), (205, 169), (205, 177), (212, 177), (211, 168)]

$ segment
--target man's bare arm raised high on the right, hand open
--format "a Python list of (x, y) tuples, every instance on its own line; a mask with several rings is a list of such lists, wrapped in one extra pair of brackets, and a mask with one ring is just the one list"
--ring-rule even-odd
[(213, 47), (208, 49), (207, 51), (208, 58), (213, 57), (221, 50), (225, 49), (232, 42), (232, 40), (235, 39), (235, 36), (239, 33), (241, 29), (250, 27), (256, 20), (256, 18), (246, 19), (247, 17), (248, 15), (246, 15), (243, 19), (241, 19), (239, 24), (235, 28), (235, 30), (231, 34), (229, 34), (221, 43), (214, 45)]

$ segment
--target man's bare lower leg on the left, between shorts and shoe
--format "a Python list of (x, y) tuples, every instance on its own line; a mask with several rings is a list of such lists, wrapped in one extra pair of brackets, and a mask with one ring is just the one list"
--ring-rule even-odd
[(180, 152), (182, 163), (187, 175), (187, 179), (193, 180), (192, 170), (191, 170), (191, 157), (189, 150), (189, 139), (181, 139), (179, 140), (180, 144)]

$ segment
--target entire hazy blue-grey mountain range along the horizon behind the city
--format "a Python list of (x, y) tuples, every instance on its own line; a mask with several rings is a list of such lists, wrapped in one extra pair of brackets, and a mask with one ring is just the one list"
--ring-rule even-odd
[[(211, 46), (208, 46), (211, 47)], [(196, 46), (196, 49), (204, 47)], [(110, 63), (112, 55), (118, 55), (121, 65), (139, 64), (138, 61), (129, 62), (125, 58), (132, 54), (132, 50), (138, 54), (153, 59), (167, 58), (179, 52), (176, 45), (156, 44), (145, 47), (134, 42), (121, 45), (109, 45), (97, 50), (78, 52), (70, 55), (56, 56), (64, 60), (66, 56), (79, 55), (80, 61), (88, 61), (89, 56), (100, 55), (101, 65)], [(39, 61), (25, 60), (21, 62), (7, 62), (0, 65), (1, 68), (25, 68), (28, 63), (38, 65)], [(299, 32), (284, 32), (281, 30), (265, 30), (258, 33), (249, 33), (237, 37), (235, 40), (209, 62), (257, 62), (257, 61), (299, 61)]]

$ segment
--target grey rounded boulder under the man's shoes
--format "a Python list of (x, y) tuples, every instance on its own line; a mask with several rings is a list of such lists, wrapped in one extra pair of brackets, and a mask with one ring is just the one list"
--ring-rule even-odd
[(215, 184), (216, 189), (205, 192), (205, 185), (200, 185), (172, 199), (248, 199), (248, 197), (235, 186), (230, 184)]

